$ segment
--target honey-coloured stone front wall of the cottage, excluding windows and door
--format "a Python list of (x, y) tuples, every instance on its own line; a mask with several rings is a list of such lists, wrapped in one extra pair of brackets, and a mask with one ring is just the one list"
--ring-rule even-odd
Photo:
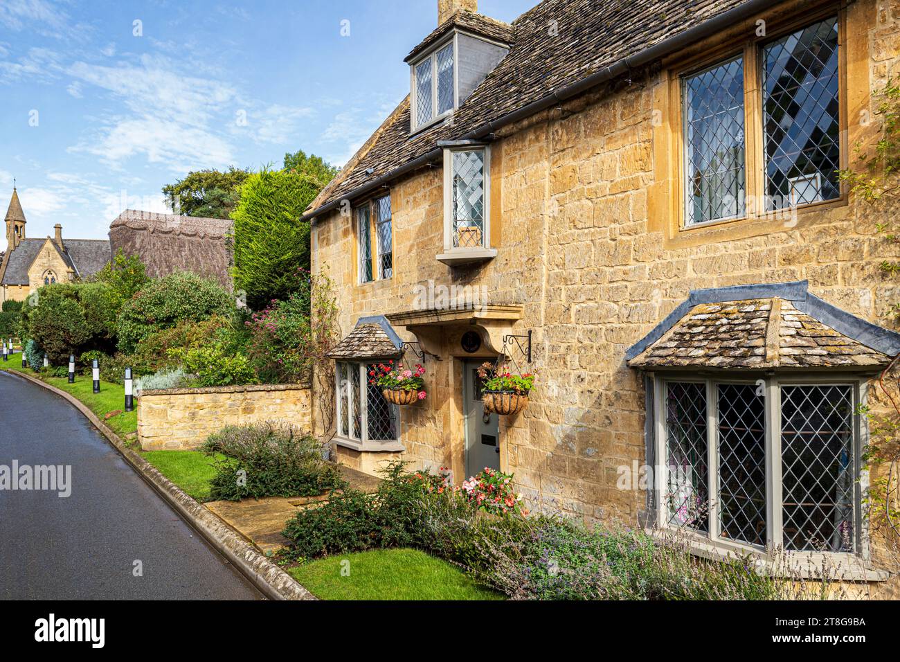
[[(872, 108), (869, 91), (900, 74), (900, 5), (862, 0), (846, 15), (851, 159), (857, 141), (878, 135), (863, 121), (871, 113), (861, 113)], [(752, 24), (735, 28), (751, 33)], [(516, 329), (534, 331), (528, 368), (538, 378), (527, 410), (501, 419), (500, 466), (515, 473), (532, 506), (586, 521), (635, 525), (645, 509), (643, 491), (617, 489), (617, 467), (644, 462), (644, 385), (625, 351), (691, 289), (806, 278), (825, 301), (896, 328), (891, 306), (900, 287), (879, 264), (896, 259), (897, 247), (876, 231), (890, 210), (851, 197), (788, 222), (678, 230), (671, 198), (679, 187), (665, 162), (680, 113), (662, 112), (668, 89), (662, 67), (635, 72), (630, 83), (500, 131), (491, 144), (498, 255), (482, 266), (451, 269), (435, 259), (443, 247), (440, 168), (392, 184), (392, 279), (358, 285), (349, 216), (329, 214), (313, 231), (313, 268), (327, 266), (336, 283), (345, 333), (360, 316), (411, 310), (414, 288), (429, 279), (484, 286), (491, 304), (524, 307)], [(401, 442), (414, 466), (450, 467), (458, 481), (465, 355), (450, 331), (441, 351), (441, 361), (424, 362), (428, 399), (403, 408)]]

